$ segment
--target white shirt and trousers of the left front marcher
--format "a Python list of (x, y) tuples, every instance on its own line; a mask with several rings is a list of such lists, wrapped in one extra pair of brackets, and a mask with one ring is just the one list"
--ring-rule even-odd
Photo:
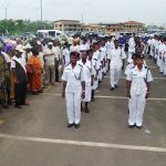
[(85, 81), (83, 68), (76, 64), (74, 69), (69, 64), (63, 72), (62, 80), (66, 82), (65, 100), (66, 114), (70, 124), (80, 124), (81, 121), (81, 83)]

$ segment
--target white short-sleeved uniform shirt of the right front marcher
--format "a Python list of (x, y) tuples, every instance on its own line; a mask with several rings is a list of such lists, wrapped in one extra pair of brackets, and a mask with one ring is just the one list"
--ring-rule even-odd
[(127, 80), (132, 81), (131, 85), (131, 95), (141, 95), (146, 94), (147, 86), (146, 82), (152, 82), (152, 73), (148, 69), (143, 68), (142, 71), (137, 69), (137, 66), (129, 70), (127, 74)]

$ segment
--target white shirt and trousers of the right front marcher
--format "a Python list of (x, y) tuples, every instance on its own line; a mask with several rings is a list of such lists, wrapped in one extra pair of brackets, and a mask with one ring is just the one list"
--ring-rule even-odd
[(143, 125), (143, 114), (146, 104), (147, 85), (146, 82), (152, 82), (151, 71), (143, 66), (142, 71), (137, 65), (127, 74), (127, 81), (132, 81), (131, 100), (129, 100), (129, 117), (128, 124), (136, 126)]

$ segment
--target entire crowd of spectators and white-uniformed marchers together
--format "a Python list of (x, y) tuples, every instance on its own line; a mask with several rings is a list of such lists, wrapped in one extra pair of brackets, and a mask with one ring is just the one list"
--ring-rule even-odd
[[(27, 92), (43, 93), (48, 85), (55, 86), (62, 74), (62, 96), (66, 101), (68, 127), (80, 127), (81, 111), (89, 113), (95, 90), (110, 73), (110, 90), (116, 91), (125, 69), (128, 96), (128, 126), (142, 128), (146, 98), (149, 97), (151, 71), (145, 55), (154, 60), (166, 75), (166, 40), (154, 37), (131, 37), (128, 52), (124, 37), (73, 39), (59, 41), (10, 40), (0, 43), (0, 103), (3, 108), (14, 102), (17, 108), (27, 103)], [(137, 106), (139, 105), (139, 106)]]

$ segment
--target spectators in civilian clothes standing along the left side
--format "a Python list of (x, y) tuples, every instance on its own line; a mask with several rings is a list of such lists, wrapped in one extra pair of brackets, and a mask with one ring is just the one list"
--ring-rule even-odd
[(17, 108), (29, 105), (27, 92), (43, 93), (59, 82), (61, 48), (58, 41), (21, 40), (0, 43), (0, 103), (3, 108), (14, 102)]

